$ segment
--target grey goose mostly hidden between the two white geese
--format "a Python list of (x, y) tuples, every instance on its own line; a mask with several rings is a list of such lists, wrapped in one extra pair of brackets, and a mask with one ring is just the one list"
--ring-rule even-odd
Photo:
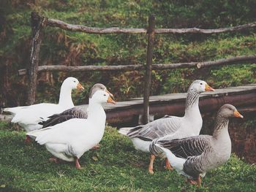
[[(98, 90), (106, 91), (110, 94), (110, 96), (113, 97), (113, 94), (108, 91), (105, 85), (101, 83), (97, 83), (92, 86), (89, 92), (89, 99), (91, 99), (94, 93)], [(39, 124), (42, 125), (42, 128), (45, 128), (48, 126), (55, 126), (56, 124), (62, 123), (72, 118), (86, 119), (87, 117), (88, 117), (87, 111), (80, 110), (77, 107), (72, 107), (71, 109), (65, 110), (64, 112), (61, 112), (59, 114), (51, 115), (50, 117), (47, 118), (47, 120), (42, 120), (42, 122), (40, 122)]]

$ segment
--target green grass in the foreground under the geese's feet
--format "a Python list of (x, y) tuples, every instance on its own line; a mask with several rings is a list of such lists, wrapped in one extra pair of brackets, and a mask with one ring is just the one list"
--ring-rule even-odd
[(0, 191), (254, 191), (256, 167), (232, 155), (206, 174), (202, 187), (163, 168), (159, 159), (154, 175), (147, 172), (148, 154), (107, 127), (99, 150), (80, 158), (82, 170), (73, 163), (52, 164), (50, 153), (36, 143), (25, 144), (25, 133), (0, 122)]

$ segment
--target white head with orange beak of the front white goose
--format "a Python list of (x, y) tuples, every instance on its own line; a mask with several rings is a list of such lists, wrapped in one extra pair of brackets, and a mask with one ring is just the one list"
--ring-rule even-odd
[(90, 101), (92, 103), (97, 103), (97, 104), (104, 104), (104, 103), (116, 104), (116, 101), (114, 101), (111, 98), (110, 93), (108, 93), (107, 91), (102, 91), (102, 90), (95, 91), (95, 93), (91, 97)]

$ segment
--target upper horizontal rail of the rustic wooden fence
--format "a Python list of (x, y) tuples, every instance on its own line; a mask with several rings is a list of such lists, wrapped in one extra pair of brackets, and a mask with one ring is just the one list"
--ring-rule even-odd
[[(146, 34), (146, 28), (98, 28), (65, 23), (62, 20), (48, 19), (48, 26), (59, 27), (67, 31), (79, 31), (89, 34)], [(229, 28), (156, 28), (155, 34), (218, 34), (223, 32), (241, 31), (248, 28), (255, 28), (256, 22), (247, 23), (241, 26)]]

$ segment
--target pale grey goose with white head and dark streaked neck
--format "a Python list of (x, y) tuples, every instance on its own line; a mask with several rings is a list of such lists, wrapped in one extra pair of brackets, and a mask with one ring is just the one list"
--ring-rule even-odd
[[(203, 80), (195, 80), (187, 91), (186, 107), (184, 117), (168, 116), (154, 120), (151, 123), (134, 128), (120, 128), (119, 133), (124, 134), (132, 140), (135, 149), (150, 153), (150, 145), (154, 139), (175, 133), (178, 129), (186, 130), (184, 137), (195, 136), (200, 133), (203, 120), (198, 107), (199, 95), (204, 91), (214, 91)], [(148, 172), (154, 174), (153, 163), (155, 155), (151, 154)], [(172, 169), (165, 158), (166, 169)]]

